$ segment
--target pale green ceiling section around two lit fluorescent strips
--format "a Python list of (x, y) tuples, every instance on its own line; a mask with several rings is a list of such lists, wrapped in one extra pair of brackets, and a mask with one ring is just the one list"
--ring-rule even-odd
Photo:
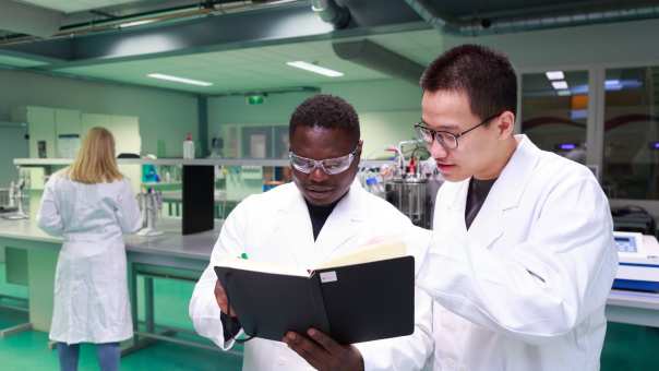
[[(317, 62), (319, 65), (343, 72), (344, 76), (327, 77), (286, 64), (286, 62), (296, 60)], [(380, 72), (339, 59), (334, 55), (331, 41), (325, 40), (76, 67), (58, 71), (75, 75), (205, 94), (387, 77), (387, 75)], [(146, 76), (149, 73), (164, 73), (202, 80), (211, 82), (214, 85), (200, 87), (159, 81)]]

